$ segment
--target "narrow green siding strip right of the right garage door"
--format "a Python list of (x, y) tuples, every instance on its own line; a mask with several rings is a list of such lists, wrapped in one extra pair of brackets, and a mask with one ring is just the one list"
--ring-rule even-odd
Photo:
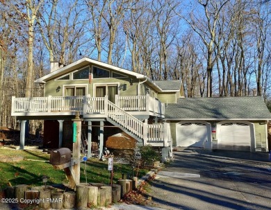
[(255, 141), (256, 141), (256, 152), (267, 151), (267, 125), (260, 123), (254, 123), (255, 127)]

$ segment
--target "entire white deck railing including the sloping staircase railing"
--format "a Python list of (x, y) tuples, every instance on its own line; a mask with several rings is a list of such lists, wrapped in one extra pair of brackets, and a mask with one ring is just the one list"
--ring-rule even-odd
[[(87, 114), (106, 114), (110, 119), (119, 123), (123, 128), (129, 130), (145, 143), (165, 142), (169, 139), (170, 133), (165, 124), (148, 125), (136, 119), (133, 115), (126, 112), (155, 112), (162, 114), (163, 104), (150, 96), (122, 96), (116, 97), (116, 104), (110, 102), (108, 97), (90, 96), (48, 96), (31, 98), (12, 98), (12, 114), (17, 113), (35, 114), (38, 112), (82, 112)], [(149, 113), (148, 113), (149, 114)], [(36, 114), (35, 114), (36, 115)], [(166, 143), (166, 142), (165, 142)]]

